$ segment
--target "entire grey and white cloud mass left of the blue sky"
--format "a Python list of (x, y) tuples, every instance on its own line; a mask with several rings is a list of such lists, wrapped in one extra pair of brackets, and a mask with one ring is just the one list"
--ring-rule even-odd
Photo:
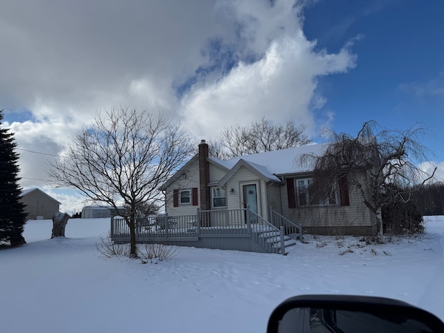
[[(180, 119), (199, 139), (262, 116), (307, 123), (313, 134), (313, 111), (325, 103), (317, 78), (347, 71), (356, 57), (350, 45), (315, 51), (302, 31), (306, 2), (3, 1), (1, 107), (6, 120), (33, 116), (6, 126), (19, 148), (54, 155), (94, 112), (119, 106)], [(211, 49), (214, 40), (225, 49)], [(219, 68), (224, 61), (234, 67)], [(53, 157), (19, 153), (22, 177), (46, 179)]]

